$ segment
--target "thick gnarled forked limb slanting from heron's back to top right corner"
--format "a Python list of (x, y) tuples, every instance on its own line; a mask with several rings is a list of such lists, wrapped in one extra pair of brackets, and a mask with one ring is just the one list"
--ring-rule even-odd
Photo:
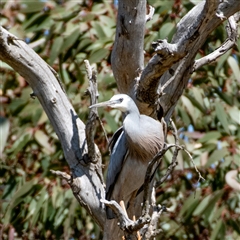
[[(161, 86), (163, 86), (173, 76), (180, 63), (179, 61), (184, 61), (182, 74), (179, 74), (168, 85), (165, 89), (165, 95), (160, 99), (165, 120), (169, 120), (179, 97), (187, 86), (192, 63), (198, 50), (206, 41), (208, 35), (222, 23), (222, 20), (216, 16), (216, 12), (222, 11), (224, 16), (230, 17), (239, 10), (240, 4), (234, 0), (222, 3), (210, 0), (203, 1), (188, 12), (178, 23), (177, 32), (171, 43), (160, 41), (156, 50), (160, 50), (161, 54), (154, 55), (149, 61), (138, 83), (136, 97), (142, 113), (156, 117), (154, 112), (155, 104), (158, 102), (156, 100), (158, 98), (158, 85), (161, 83)], [(169, 47), (169, 51), (167, 51), (167, 47)], [(175, 52), (177, 54), (171, 54)], [(184, 58), (186, 55), (188, 57)]]

